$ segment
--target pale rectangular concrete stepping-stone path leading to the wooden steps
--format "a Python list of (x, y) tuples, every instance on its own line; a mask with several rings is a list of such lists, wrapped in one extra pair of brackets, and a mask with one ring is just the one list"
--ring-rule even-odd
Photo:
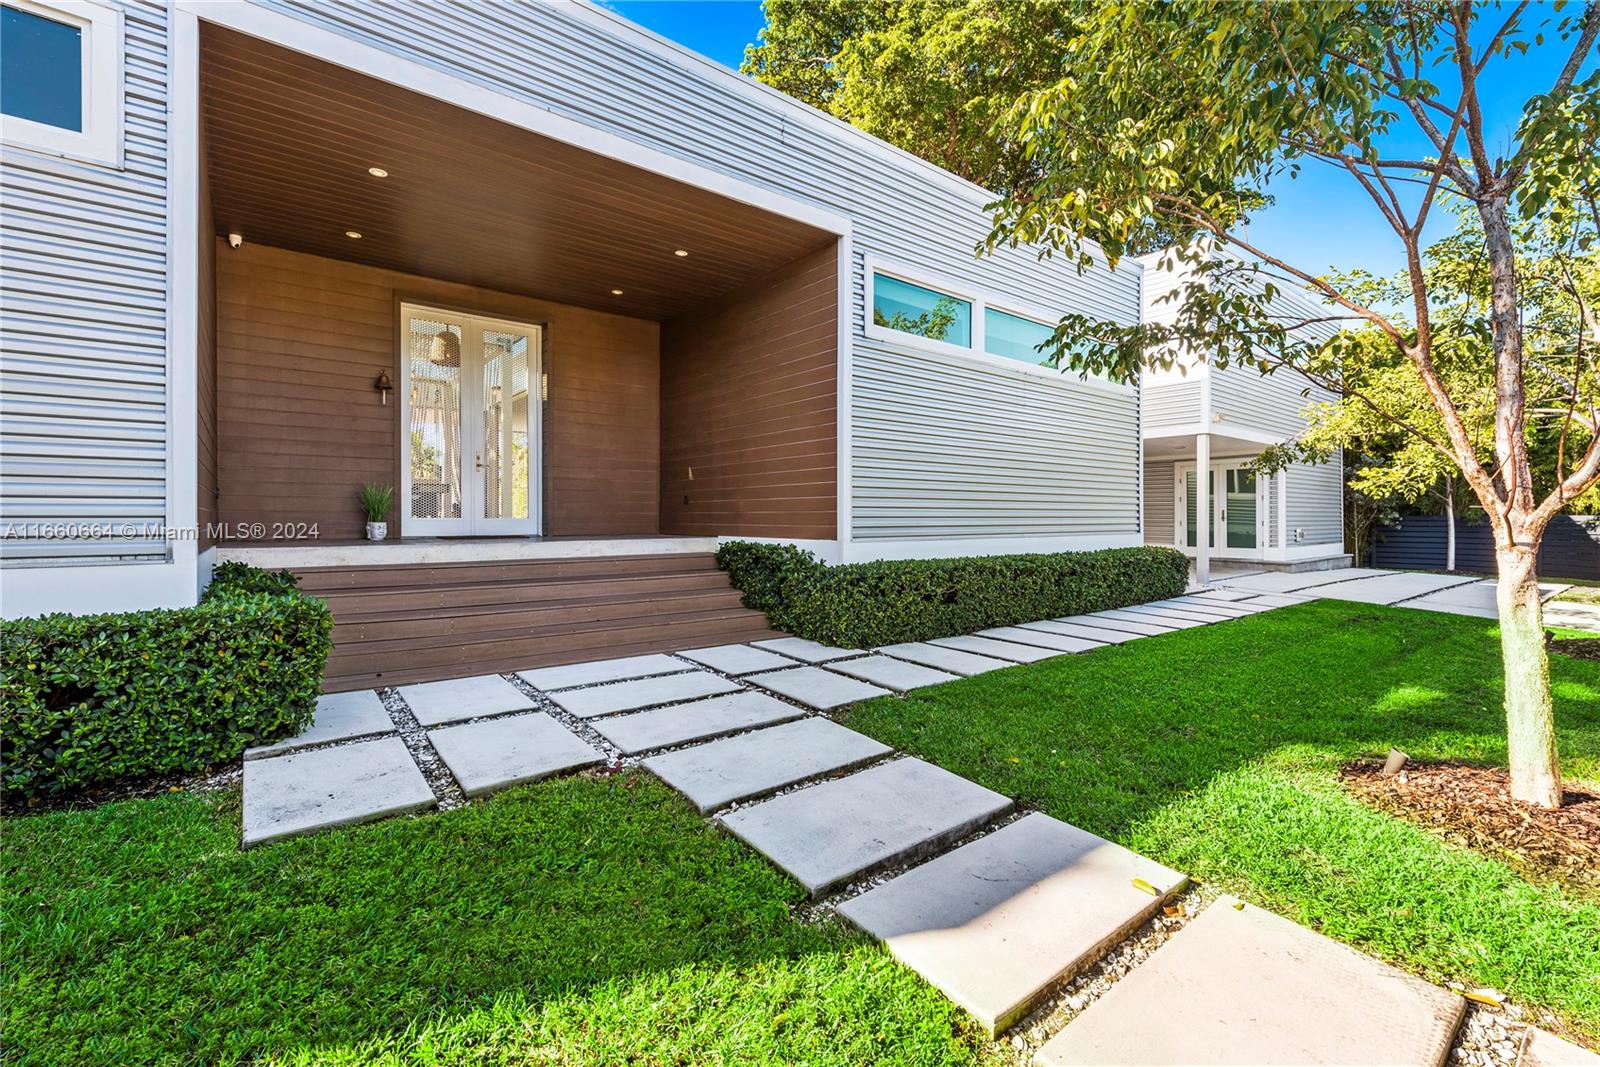
[[(408, 741), (432, 745), (472, 797), (643, 757), (645, 769), (813, 899), (890, 869), (838, 912), (1000, 1032), (1187, 878), (1045, 814), (1003, 822), (1008, 797), (894, 758), (819, 712), (1315, 595), (1299, 589), (1285, 576), (1264, 590), (1210, 589), (878, 649), (787, 637), (518, 672), (538, 697), (498, 675), (403, 686), (405, 707), (386, 709), (376, 693), (328, 696), (304, 734), (250, 752), (243, 841), (432, 806)], [(411, 729), (406, 707), (434, 729), (360, 741)], [(1213, 904), (1179, 929), (1056, 1033), (1038, 1062), (1443, 1062), (1459, 997), (1234, 904)], [(1576, 1046), (1530, 1037), (1523, 1067), (1595, 1067), (1568, 1049)]]

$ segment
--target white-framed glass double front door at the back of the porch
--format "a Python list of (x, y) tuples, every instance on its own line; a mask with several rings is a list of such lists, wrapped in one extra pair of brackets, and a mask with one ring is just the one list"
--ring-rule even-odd
[(400, 314), (402, 536), (539, 533), (539, 328)]

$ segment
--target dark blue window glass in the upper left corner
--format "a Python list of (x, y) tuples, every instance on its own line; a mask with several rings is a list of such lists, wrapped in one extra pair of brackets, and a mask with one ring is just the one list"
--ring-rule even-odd
[(83, 131), (83, 30), (0, 6), (0, 112)]

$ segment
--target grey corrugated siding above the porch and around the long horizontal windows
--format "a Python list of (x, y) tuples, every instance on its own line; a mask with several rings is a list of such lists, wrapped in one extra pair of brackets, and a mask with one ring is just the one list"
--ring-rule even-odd
[[(262, 6), (842, 214), (853, 224), (853, 517), (859, 539), (1133, 534), (1138, 397), (962, 357), (869, 342), (864, 258), (952, 278), (1002, 302), (1139, 317), (1128, 262), (1078, 274), (1037, 250), (978, 258), (992, 197), (792, 101), (696, 61), (664, 59), (571, 5)], [(470, 40), (470, 50), (440, 50)], [(493, 54), (498, 61), (480, 62)], [(898, 440), (888, 440), (894, 437)], [(906, 448), (915, 440), (915, 448)], [(845, 518), (842, 517), (842, 522)]]

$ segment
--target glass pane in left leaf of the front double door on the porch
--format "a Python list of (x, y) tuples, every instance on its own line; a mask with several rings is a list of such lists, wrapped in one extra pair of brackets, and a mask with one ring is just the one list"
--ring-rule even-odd
[(406, 515), (461, 520), (461, 349), (466, 320), (406, 317), (406, 451), (410, 499)]

